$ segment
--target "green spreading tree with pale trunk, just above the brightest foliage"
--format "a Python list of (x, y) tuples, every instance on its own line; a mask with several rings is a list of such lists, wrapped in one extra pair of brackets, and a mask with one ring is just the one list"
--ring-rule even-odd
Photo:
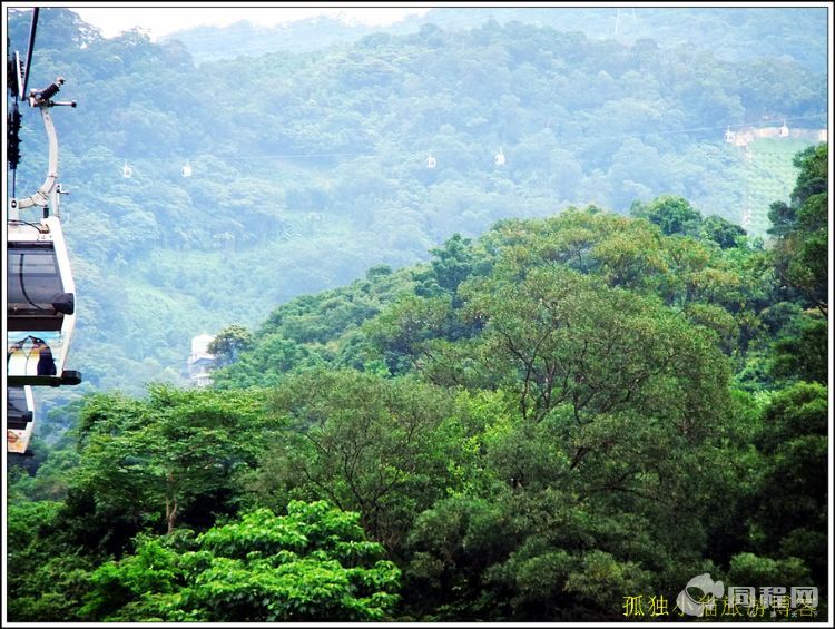
[(223, 511), (239, 472), (255, 464), (269, 423), (256, 390), (153, 385), (149, 393), (147, 401), (99, 394), (88, 402), (75, 489), (94, 499), (91, 520), (121, 513), (136, 532), (163, 514), (171, 532), (181, 519)]

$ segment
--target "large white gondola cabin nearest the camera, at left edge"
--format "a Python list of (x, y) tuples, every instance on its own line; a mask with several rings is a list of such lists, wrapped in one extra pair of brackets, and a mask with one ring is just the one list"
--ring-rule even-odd
[(78, 384), (80, 374), (65, 371), (76, 287), (60, 219), (11, 220), (7, 244), (7, 383)]

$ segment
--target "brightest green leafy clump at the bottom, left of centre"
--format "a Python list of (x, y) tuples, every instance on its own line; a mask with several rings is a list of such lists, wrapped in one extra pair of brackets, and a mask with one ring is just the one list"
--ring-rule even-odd
[(358, 514), (292, 501), (216, 525), (179, 552), (140, 540), (101, 566), (82, 612), (109, 621), (381, 621), (397, 601), (400, 571), (365, 538)]

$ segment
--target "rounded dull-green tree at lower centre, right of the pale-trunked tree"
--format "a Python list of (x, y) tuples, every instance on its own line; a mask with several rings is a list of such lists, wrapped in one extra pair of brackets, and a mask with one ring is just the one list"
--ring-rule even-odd
[(298, 374), (278, 386), (274, 412), (287, 431), (263, 459), (255, 491), (268, 504), (320, 498), (357, 511), (389, 549), (450, 482), (444, 420), (450, 393), (414, 379), (354, 371)]

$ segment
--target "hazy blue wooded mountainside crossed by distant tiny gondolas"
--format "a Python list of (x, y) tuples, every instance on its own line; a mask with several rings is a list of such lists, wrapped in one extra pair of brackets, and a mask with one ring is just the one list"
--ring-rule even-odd
[[(747, 30), (735, 41), (772, 40), (816, 14), (785, 11), (772, 30), (738, 22)], [(684, 13), (662, 13), (678, 28)], [(12, 47), (24, 48), (28, 13), (11, 12), (9, 26)], [(815, 32), (786, 41), (805, 36), (812, 53)], [(493, 20), (196, 65), (177, 41), (102, 39), (75, 13), (46, 9), (32, 85), (65, 76), (62, 95), (78, 101), (55, 121), (84, 296), (80, 391), (181, 383), (191, 336), (253, 327), (276, 304), (376, 264), (423, 261), (452, 234), (475, 237), (498, 219), (588, 203), (628, 213), (674, 194), (739, 223), (756, 189), (723, 134), (825, 127), (826, 76), (793, 59), (793, 43), (737, 62), (720, 60), (721, 48), (669, 43)], [(37, 112), (23, 125), (21, 191), (46, 167)], [(773, 168), (792, 170), (792, 155)], [(780, 196), (752, 197), (757, 234), (792, 179)]]

